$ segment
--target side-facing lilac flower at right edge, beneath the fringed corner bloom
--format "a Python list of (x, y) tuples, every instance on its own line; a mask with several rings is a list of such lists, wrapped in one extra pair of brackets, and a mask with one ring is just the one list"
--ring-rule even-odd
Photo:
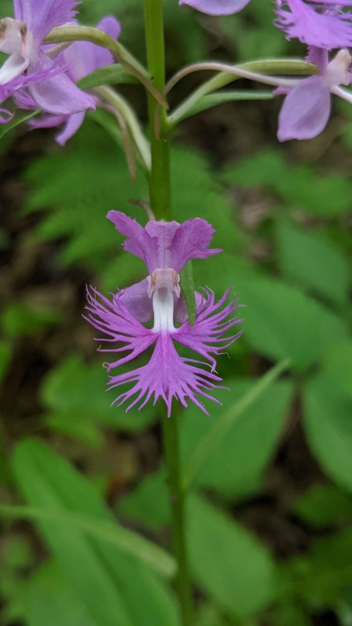
[(307, 61), (318, 66), (320, 74), (299, 81), (293, 88), (279, 87), (275, 93), (284, 93), (286, 98), (279, 113), (279, 141), (289, 139), (312, 139), (321, 133), (328, 122), (331, 108), (331, 93), (345, 100), (352, 100), (352, 93), (339, 85), (349, 85), (352, 58), (348, 50), (340, 50), (328, 63), (328, 51), (322, 48), (309, 49)]

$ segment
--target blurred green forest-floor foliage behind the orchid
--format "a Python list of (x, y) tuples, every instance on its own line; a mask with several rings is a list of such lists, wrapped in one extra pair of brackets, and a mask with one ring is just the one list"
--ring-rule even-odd
[[(1, 9), (11, 15), (10, 3)], [(80, 7), (87, 24), (110, 12), (143, 59), (142, 2)], [(263, 0), (229, 18), (165, 0), (165, 21), (169, 74), (205, 58), (304, 54)], [(186, 78), (171, 103), (207, 76)], [(121, 91), (145, 120), (141, 88)], [(233, 285), (247, 305), (244, 334), (219, 359), (223, 406), (211, 418), (195, 406), (182, 414), (184, 461), (258, 377), (292, 361), (234, 422), (190, 496), (195, 626), (352, 625), (352, 110), (334, 103), (315, 140), (281, 145), (279, 106), (221, 105), (173, 141), (173, 216), (209, 220), (224, 249), (194, 262), (195, 286), (220, 296)], [(111, 521), (163, 548), (170, 536), (157, 413), (110, 408), (81, 317), (86, 283), (108, 292), (145, 275), (105, 214), (145, 223), (128, 201), (147, 201), (147, 187), (142, 175), (130, 182), (100, 121), (87, 115), (65, 149), (51, 131), (22, 127), (0, 142), (1, 502), (54, 515), (1, 518), (1, 626), (180, 624), (161, 562), (111, 542)]]

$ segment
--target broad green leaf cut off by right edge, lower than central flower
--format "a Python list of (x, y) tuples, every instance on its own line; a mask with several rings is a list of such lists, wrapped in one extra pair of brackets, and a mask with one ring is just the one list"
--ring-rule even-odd
[(352, 400), (319, 374), (304, 389), (304, 427), (326, 475), (352, 491)]

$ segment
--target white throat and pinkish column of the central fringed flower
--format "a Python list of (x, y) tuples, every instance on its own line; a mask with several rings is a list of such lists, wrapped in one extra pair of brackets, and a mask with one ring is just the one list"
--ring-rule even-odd
[(156, 269), (148, 280), (148, 296), (153, 297), (154, 332), (173, 332), (173, 294), (180, 297), (180, 275), (171, 267)]

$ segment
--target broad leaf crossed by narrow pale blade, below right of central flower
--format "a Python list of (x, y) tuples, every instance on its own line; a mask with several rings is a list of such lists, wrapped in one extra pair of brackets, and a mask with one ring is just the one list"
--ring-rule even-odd
[(181, 431), (182, 449), (188, 456), (185, 488), (200, 472), (202, 485), (227, 495), (234, 489), (237, 493), (251, 490), (274, 451), (286, 416), (290, 386), (270, 387), (287, 366), (289, 362), (284, 361), (257, 381), (226, 381), (232, 393), (225, 398), (224, 408), (210, 409), (214, 418), (192, 414), (189, 409), (191, 415), (187, 414)]

